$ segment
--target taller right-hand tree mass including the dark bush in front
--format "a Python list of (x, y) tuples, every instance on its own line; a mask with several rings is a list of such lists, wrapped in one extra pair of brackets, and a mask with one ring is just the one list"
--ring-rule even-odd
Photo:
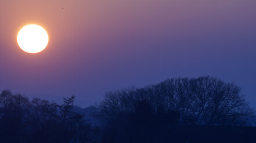
[(172, 78), (107, 92), (99, 110), (106, 121), (104, 142), (187, 142), (187, 127), (243, 126), (254, 114), (238, 86), (214, 77)]

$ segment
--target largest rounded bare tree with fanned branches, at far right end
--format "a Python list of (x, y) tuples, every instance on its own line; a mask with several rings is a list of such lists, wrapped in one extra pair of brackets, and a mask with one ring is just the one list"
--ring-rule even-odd
[(218, 78), (172, 78), (160, 85), (182, 124), (237, 125), (254, 114), (241, 89)]

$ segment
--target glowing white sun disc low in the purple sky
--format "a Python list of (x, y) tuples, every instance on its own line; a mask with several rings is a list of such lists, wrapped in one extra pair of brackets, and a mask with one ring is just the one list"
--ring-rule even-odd
[(29, 53), (41, 52), (46, 48), (48, 41), (49, 37), (45, 29), (35, 24), (21, 28), (17, 36), (20, 48)]

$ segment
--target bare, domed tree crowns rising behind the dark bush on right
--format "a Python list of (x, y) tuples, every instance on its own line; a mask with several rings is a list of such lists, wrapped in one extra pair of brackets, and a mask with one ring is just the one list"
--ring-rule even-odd
[(145, 88), (107, 92), (99, 108), (111, 118), (134, 111), (142, 100), (155, 111), (158, 106), (178, 111), (182, 125), (239, 125), (254, 114), (238, 86), (210, 76), (171, 78)]

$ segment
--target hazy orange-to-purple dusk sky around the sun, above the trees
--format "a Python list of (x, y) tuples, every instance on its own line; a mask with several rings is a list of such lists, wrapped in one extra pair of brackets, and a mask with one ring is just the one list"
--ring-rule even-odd
[[(0, 90), (90, 106), (104, 93), (172, 77), (213, 76), (256, 107), (255, 0), (0, 0)], [(62, 9), (62, 7), (64, 9)], [(17, 33), (49, 35), (38, 54)]]

